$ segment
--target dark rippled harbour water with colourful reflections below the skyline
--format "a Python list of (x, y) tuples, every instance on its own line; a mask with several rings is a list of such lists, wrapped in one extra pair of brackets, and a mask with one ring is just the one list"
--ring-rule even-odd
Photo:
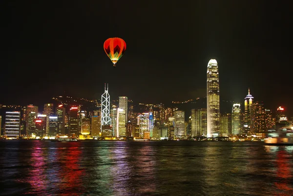
[(293, 146), (0, 141), (0, 195), (293, 195)]

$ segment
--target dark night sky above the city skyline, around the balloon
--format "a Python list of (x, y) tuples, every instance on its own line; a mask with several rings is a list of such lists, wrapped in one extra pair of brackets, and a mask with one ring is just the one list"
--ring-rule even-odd
[[(293, 111), (291, 5), (268, 2), (2, 0), (0, 103), (42, 104), (64, 91), (98, 99), (105, 82), (112, 98), (195, 99), (214, 58), (221, 99), (243, 103), (250, 87), (255, 100)], [(109, 37), (127, 44), (115, 69)]]

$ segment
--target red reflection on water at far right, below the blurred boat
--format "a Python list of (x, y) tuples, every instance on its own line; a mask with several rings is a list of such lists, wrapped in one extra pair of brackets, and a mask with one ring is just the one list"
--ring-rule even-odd
[(282, 178), (281, 182), (275, 182), (275, 186), (281, 190), (288, 192), (288, 194), (278, 194), (278, 195), (292, 195), (293, 188), (288, 186), (291, 185), (290, 178), (292, 177), (291, 171), (290, 171), (290, 164), (289, 159), (287, 157), (285, 151), (279, 151), (277, 154), (277, 176)]

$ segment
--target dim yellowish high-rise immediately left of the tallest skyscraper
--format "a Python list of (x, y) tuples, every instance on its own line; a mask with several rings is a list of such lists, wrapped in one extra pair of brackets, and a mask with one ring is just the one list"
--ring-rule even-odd
[(193, 126), (195, 126), (195, 135), (194, 136), (203, 136), (203, 135), (207, 136), (207, 128), (208, 128), (207, 109), (202, 108), (202, 109), (195, 110), (195, 122), (194, 123), (195, 123), (195, 125), (193, 125)]

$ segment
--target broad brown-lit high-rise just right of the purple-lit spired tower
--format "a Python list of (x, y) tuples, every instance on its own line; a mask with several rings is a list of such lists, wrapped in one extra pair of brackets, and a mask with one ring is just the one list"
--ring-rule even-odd
[(263, 103), (255, 102), (250, 105), (251, 133), (264, 133), (266, 130), (265, 108)]

